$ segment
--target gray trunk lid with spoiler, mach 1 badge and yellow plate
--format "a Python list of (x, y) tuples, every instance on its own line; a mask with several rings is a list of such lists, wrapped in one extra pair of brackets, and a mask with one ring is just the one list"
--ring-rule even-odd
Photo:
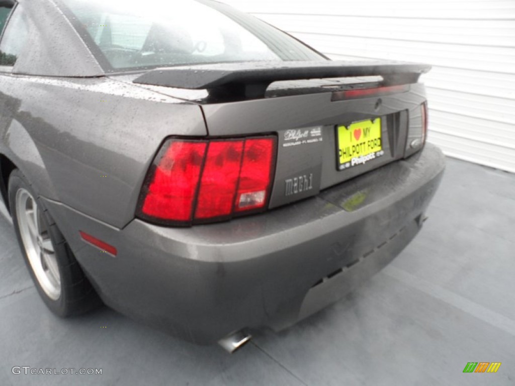
[[(399, 62), (228, 63), (155, 69), (133, 82), (199, 103), (210, 136), (277, 134), (273, 208), (420, 150), (410, 146), (424, 130), (425, 89), (417, 81), (429, 69)], [(380, 147), (369, 145), (378, 137)]]

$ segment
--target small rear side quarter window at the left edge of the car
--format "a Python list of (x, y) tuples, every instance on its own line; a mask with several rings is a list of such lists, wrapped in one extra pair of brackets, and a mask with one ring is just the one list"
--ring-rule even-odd
[(13, 66), (28, 37), (25, 13), (21, 5), (16, 6), (0, 41), (0, 65)]

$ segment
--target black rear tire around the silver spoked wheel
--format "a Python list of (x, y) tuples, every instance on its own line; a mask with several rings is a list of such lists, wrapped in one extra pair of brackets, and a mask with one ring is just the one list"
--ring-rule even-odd
[[(21, 194), (19, 194), (19, 192)], [(44, 229), (44, 234), (46, 237), (45, 241), (48, 242), (49, 239), (53, 244), (53, 261), (54, 263), (57, 262), (57, 267), (59, 269), (58, 277), (60, 278), (60, 283), (57, 281), (54, 283), (56, 288), (60, 287), (58, 295), (55, 296), (58, 296), (57, 299), (52, 299), (52, 297), (50, 297), (43, 289), (40, 280), (35, 273), (35, 269), (31, 265), (28, 256), (29, 252), (27, 252), (26, 245), (24, 244), (23, 238), (21, 236), (19, 213), (16, 200), (17, 197), (20, 197), (23, 194), (25, 194), (25, 197), (27, 197), (26, 192), (28, 192), (29, 196), (31, 196), (30, 199), (36, 202), (37, 209), (33, 210), (33, 212), (37, 213), (35, 216), (37, 217), (37, 223), (41, 225), (41, 229)], [(14, 169), (9, 176), (8, 194), (9, 207), (16, 238), (18, 238), (18, 243), (20, 245), (20, 249), (22, 251), (30, 276), (32, 277), (32, 280), (41, 298), (43, 299), (43, 302), (45, 302), (47, 307), (52, 312), (54, 312), (56, 315), (59, 315), (60, 317), (78, 315), (98, 307), (101, 304), (101, 301), (96, 291), (89, 282), (88, 278), (84, 275), (84, 272), (75, 259), (75, 256), (68, 246), (68, 243), (59, 231), (57, 224), (55, 223), (52, 216), (48, 213), (43, 200), (39, 198), (37, 192), (35, 189), (33, 189), (30, 182), (18, 169)], [(39, 248), (42, 248), (41, 244), (39, 245)], [(55, 266), (56, 264), (54, 264), (54, 268)]]

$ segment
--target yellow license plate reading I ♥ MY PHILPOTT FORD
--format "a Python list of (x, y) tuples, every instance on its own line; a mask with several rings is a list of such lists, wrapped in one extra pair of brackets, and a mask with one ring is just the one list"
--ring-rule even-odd
[(381, 138), (381, 118), (362, 120), (348, 126), (338, 126), (338, 169), (364, 165), (384, 154)]

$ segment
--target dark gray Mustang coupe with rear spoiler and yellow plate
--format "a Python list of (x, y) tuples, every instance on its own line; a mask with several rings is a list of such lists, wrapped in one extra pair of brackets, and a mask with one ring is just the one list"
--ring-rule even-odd
[(410, 242), (441, 180), (430, 66), (331, 61), (211, 0), (0, 0), (0, 190), (65, 317), (232, 350)]

